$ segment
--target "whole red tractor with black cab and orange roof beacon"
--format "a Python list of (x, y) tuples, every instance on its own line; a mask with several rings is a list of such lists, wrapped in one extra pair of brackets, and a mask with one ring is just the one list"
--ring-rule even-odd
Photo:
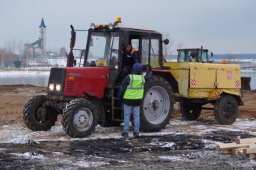
[[(71, 26), (70, 54), (67, 67), (50, 69), (46, 95), (29, 98), (23, 120), (33, 131), (50, 130), (57, 115), (70, 137), (86, 137), (98, 124), (119, 125), (123, 121), (122, 105), (117, 100), (122, 72), (122, 45), (132, 42), (140, 63), (151, 66), (153, 77), (144, 89), (141, 106), (141, 130), (159, 131), (169, 123), (174, 110), (177, 82), (164, 68), (162, 35), (151, 28), (122, 26), (117, 18), (108, 25), (91, 24), (87, 45), (81, 50), (79, 64), (74, 60), (75, 33)], [(81, 30), (83, 31), (83, 30)], [(165, 70), (166, 69), (166, 70)], [(173, 86), (175, 89), (173, 90)]]

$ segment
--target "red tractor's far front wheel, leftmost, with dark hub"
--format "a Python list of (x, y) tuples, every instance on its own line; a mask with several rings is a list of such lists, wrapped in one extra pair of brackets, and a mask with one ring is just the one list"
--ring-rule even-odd
[(43, 107), (46, 96), (38, 95), (29, 98), (23, 109), (23, 120), (33, 131), (50, 130), (57, 120), (57, 112), (53, 108)]

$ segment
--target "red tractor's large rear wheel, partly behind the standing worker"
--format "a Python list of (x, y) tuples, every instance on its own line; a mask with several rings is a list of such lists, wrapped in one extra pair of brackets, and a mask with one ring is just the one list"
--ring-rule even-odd
[(144, 88), (140, 114), (142, 131), (153, 132), (164, 129), (174, 111), (174, 94), (169, 82), (153, 76)]

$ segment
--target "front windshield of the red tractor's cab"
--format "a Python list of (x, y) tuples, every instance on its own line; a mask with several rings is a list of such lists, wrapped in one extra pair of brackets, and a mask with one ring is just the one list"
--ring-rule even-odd
[(114, 66), (118, 60), (119, 33), (92, 32), (90, 34), (86, 66)]

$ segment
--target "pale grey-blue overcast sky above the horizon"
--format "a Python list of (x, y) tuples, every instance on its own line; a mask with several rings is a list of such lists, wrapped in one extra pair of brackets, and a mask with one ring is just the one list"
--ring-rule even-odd
[(256, 53), (255, 0), (0, 0), (0, 47), (10, 40), (38, 40), (42, 17), (46, 50), (69, 50), (70, 24), (88, 29), (121, 17), (124, 25), (168, 33), (174, 48), (182, 43), (215, 54)]

